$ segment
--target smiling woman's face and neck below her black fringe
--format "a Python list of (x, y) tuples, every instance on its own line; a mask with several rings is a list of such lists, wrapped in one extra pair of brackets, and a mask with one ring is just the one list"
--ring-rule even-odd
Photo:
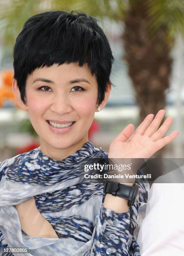
[[(35, 69), (27, 79), (25, 92), (30, 121), (40, 136), (44, 154), (60, 160), (62, 150), (70, 155), (88, 141), (98, 85), (87, 64), (54, 64)], [(52, 127), (49, 121), (53, 122), (51, 125), (63, 123), (67, 127)]]

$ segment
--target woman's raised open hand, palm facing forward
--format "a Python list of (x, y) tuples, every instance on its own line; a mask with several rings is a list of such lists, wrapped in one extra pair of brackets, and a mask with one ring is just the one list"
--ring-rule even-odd
[(159, 128), (164, 114), (165, 110), (160, 110), (155, 118), (153, 114), (147, 115), (144, 121), (138, 126), (135, 133), (134, 125), (127, 125), (115, 140), (111, 142), (108, 158), (147, 159), (166, 144), (173, 141), (179, 134), (178, 131), (173, 131), (168, 136), (164, 137), (173, 122), (172, 117), (166, 118)]

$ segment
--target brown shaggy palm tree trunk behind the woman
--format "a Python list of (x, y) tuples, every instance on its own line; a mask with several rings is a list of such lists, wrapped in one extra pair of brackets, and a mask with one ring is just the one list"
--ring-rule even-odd
[(140, 120), (143, 120), (146, 115), (156, 114), (165, 107), (165, 93), (171, 74), (172, 43), (166, 39), (166, 27), (150, 33), (149, 0), (138, 2), (137, 5), (130, 4), (124, 22), (123, 42), (124, 58), (136, 92)]

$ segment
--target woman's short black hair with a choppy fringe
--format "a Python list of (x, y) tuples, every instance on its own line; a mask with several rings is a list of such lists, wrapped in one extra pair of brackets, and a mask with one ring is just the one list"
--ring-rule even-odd
[(98, 84), (97, 104), (104, 100), (114, 61), (111, 47), (98, 20), (82, 11), (39, 13), (23, 25), (13, 50), (14, 78), (26, 104), (28, 75), (53, 64), (87, 63)]

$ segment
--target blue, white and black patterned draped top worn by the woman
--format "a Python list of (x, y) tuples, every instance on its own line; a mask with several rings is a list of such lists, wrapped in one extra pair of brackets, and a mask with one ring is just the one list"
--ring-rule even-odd
[[(0, 180), (0, 247), (6, 244), (8, 247), (28, 248), (28, 253), (16, 253), (17, 256), (103, 255), (100, 236), (105, 226), (108, 228), (108, 220), (111, 234), (114, 230), (117, 237), (116, 234), (123, 232), (118, 241), (113, 241), (111, 252), (116, 252), (116, 255), (122, 255), (123, 251), (128, 253), (132, 241), (136, 248), (136, 242), (134, 238), (130, 239), (128, 231), (129, 225), (134, 225), (130, 223), (131, 212), (116, 213), (104, 208), (104, 184), (83, 179), (82, 160), (107, 157), (103, 149), (88, 141), (62, 161), (49, 158), (39, 147), (0, 163), (0, 173), (3, 173)], [(147, 194), (142, 189), (139, 201), (144, 204)], [(37, 209), (53, 226), (59, 238), (33, 238), (21, 229), (15, 205), (32, 197), (35, 197)], [(140, 202), (131, 218), (136, 216), (139, 206)], [(114, 218), (119, 220), (119, 224), (114, 224), (116, 227), (111, 230)], [(111, 239), (108, 238), (107, 242), (104, 239), (107, 246), (104, 253), (108, 249), (108, 241), (111, 242)], [(124, 249), (121, 246), (123, 243)]]

